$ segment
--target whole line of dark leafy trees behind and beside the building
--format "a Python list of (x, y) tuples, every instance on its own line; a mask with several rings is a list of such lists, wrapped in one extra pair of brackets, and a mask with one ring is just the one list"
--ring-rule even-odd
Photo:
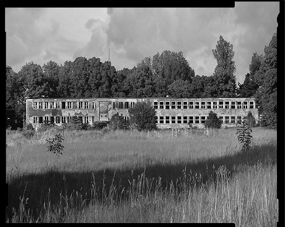
[(122, 70), (96, 57), (78, 57), (64, 65), (53, 61), (43, 66), (29, 62), (18, 73), (6, 65), (6, 127), (23, 127), (26, 98), (168, 95), (184, 98), (255, 96), (264, 116), (262, 124), (276, 128), (276, 39), (274, 34), (264, 49), (264, 56), (253, 54), (249, 73), (239, 87), (233, 45), (222, 36), (213, 49), (217, 66), (211, 76), (195, 75), (182, 52), (169, 50), (146, 57), (132, 69)]

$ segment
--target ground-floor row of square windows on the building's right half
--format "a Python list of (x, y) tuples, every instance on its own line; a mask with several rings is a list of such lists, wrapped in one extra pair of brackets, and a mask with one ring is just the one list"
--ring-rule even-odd
[[(208, 116), (159, 116), (156, 117), (156, 124), (203, 124), (208, 119)], [(219, 119), (223, 124), (241, 124), (241, 116), (220, 116)]]

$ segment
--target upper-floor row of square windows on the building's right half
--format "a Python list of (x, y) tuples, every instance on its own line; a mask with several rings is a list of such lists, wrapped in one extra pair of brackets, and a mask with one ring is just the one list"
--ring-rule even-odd
[(250, 109), (254, 108), (253, 101), (154, 101), (155, 109)]

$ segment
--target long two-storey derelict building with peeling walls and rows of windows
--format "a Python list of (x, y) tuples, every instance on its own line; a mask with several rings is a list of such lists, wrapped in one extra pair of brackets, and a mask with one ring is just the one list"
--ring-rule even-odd
[(156, 110), (159, 129), (187, 127), (188, 123), (204, 128), (209, 111), (217, 113), (223, 127), (233, 127), (246, 119), (248, 111), (257, 120), (255, 99), (250, 98), (36, 98), (26, 100), (26, 124), (38, 128), (44, 122), (61, 125), (72, 116), (82, 123), (108, 122), (114, 114), (129, 123), (128, 109), (135, 103), (149, 101)]

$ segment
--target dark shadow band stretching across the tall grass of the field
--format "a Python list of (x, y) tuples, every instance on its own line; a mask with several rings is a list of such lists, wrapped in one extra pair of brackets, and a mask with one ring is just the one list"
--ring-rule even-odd
[[(155, 187), (157, 179), (161, 177), (161, 189), (165, 189), (169, 182), (176, 186), (185, 178), (191, 178), (201, 174), (202, 181), (205, 183), (208, 179), (214, 179), (218, 168), (225, 165), (230, 174), (241, 171), (242, 166), (253, 166), (257, 162), (263, 164), (276, 162), (276, 146), (267, 144), (251, 148), (245, 153), (235, 153), (218, 158), (199, 160), (193, 163), (179, 162), (176, 164), (165, 164), (152, 162), (146, 168), (118, 170), (114, 175), (114, 170), (106, 169), (105, 171), (93, 172), (66, 172), (58, 171), (56, 167), (51, 168), (44, 174), (27, 174), (15, 178), (9, 184), (8, 201), (9, 206), (6, 212), (7, 217), (13, 215), (13, 207), (17, 211), (21, 207), (32, 210), (36, 217), (37, 212), (43, 210), (43, 207), (59, 207), (72, 200), (73, 207), (82, 206), (90, 201), (92, 194), (102, 198), (103, 191), (109, 193), (112, 180), (113, 186), (116, 186), (116, 193), (122, 195), (122, 189), (128, 191), (130, 183), (138, 180), (138, 176), (153, 179)], [(213, 168), (215, 166), (215, 168)], [(185, 168), (186, 167), (186, 168)], [(186, 170), (186, 171), (184, 171)], [(178, 180), (177, 180), (178, 179)], [(178, 182), (178, 184), (177, 184)], [(103, 184), (105, 184), (103, 190)], [(95, 188), (95, 189), (94, 189)], [(155, 190), (155, 189), (154, 189)], [(23, 198), (22, 203), (21, 199)], [(20, 199), (19, 199), (20, 198)], [(25, 204), (26, 198), (29, 198)]]

